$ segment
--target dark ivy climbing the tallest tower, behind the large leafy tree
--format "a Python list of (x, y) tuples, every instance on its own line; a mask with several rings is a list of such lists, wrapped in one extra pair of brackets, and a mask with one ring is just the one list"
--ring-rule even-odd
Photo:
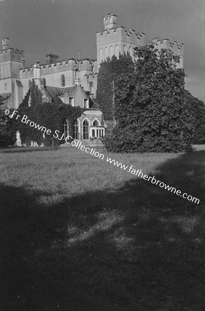
[(96, 102), (104, 113), (104, 120), (113, 120), (114, 117), (114, 88), (120, 75), (133, 72), (134, 63), (129, 54), (113, 56), (102, 62), (97, 76)]

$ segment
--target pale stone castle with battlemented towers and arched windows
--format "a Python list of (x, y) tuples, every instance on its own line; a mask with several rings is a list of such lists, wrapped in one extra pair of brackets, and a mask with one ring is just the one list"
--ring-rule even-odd
[[(97, 59), (59, 60), (58, 55), (47, 54), (45, 64), (24, 67), (23, 50), (10, 47), (10, 39), (2, 39), (0, 51), (0, 95), (5, 99), (4, 107), (17, 109), (30, 88), (32, 79), (43, 91), (46, 86), (45, 101), (64, 102), (84, 108), (84, 115), (78, 120), (77, 137), (89, 140), (104, 135), (102, 113), (95, 103), (97, 91), (97, 73), (102, 61), (107, 57), (130, 53), (134, 60), (134, 48), (145, 44), (144, 32), (126, 31), (117, 26), (117, 16), (104, 17), (104, 30), (96, 33)], [(184, 44), (168, 39), (153, 39), (155, 48), (170, 48), (180, 57), (179, 68), (184, 66)]]

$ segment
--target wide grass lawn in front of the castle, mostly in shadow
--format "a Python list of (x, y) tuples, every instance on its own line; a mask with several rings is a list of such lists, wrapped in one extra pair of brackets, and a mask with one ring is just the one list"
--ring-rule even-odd
[[(104, 153), (104, 151), (101, 151)], [(205, 151), (0, 151), (0, 310), (205, 310)]]

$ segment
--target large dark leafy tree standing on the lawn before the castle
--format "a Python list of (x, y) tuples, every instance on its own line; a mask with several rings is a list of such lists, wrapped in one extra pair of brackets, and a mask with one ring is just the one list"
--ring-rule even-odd
[(135, 49), (135, 71), (115, 85), (117, 126), (105, 139), (115, 152), (191, 149), (194, 122), (184, 99), (184, 70), (170, 50)]

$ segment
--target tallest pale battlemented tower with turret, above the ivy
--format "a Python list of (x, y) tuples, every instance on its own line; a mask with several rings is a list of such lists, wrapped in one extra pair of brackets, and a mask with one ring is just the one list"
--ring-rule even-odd
[(104, 17), (104, 31), (97, 32), (97, 65), (106, 60), (107, 57), (119, 53), (129, 52), (134, 59), (133, 49), (135, 46), (145, 44), (144, 32), (135, 32), (135, 30), (126, 31), (122, 26), (116, 26), (117, 15), (108, 14)]

